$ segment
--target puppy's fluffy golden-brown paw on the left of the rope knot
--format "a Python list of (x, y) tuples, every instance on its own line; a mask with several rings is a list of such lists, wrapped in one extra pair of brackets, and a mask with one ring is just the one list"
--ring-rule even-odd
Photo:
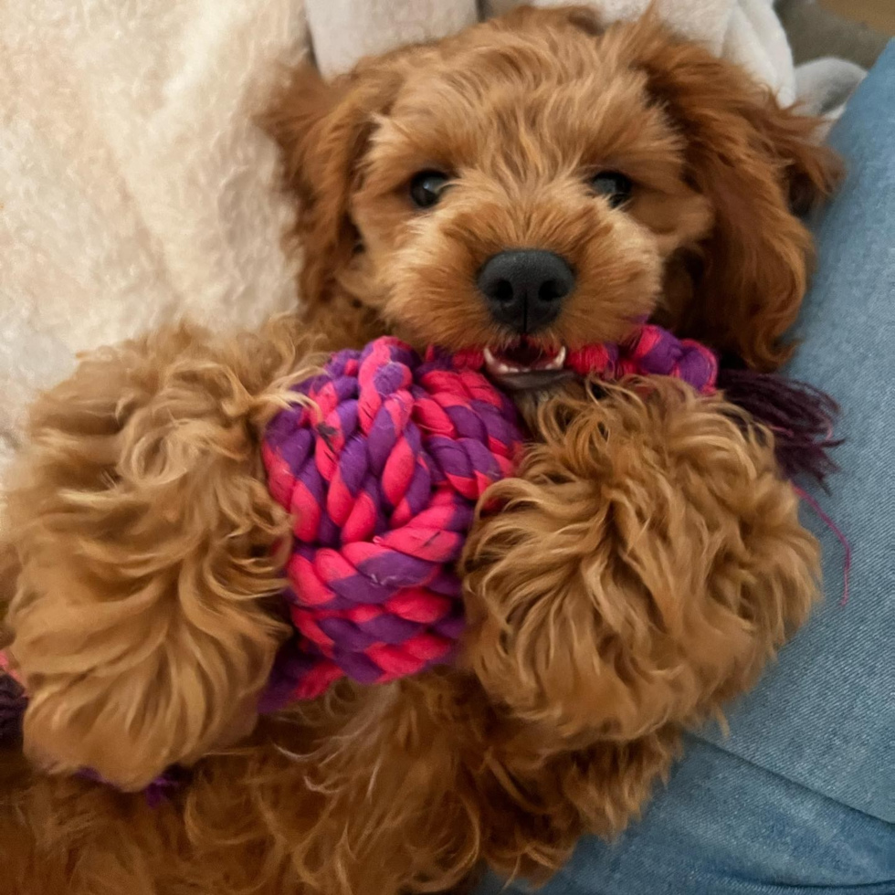
[(89, 357), (35, 406), (8, 531), (26, 752), (126, 789), (244, 734), (282, 637), (289, 523), (256, 426), (295, 344), (172, 328)]

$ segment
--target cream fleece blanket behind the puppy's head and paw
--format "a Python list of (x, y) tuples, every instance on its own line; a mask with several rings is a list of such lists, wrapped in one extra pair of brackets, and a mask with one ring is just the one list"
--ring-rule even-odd
[[(607, 19), (648, 0), (594, 0)], [(332, 74), (512, 0), (0, 0), (0, 471), (75, 353), (177, 315), (252, 325), (296, 300), (273, 147), (279, 63)], [(796, 97), (772, 0), (665, 0), (669, 21)], [(806, 83), (818, 89), (815, 79)]]

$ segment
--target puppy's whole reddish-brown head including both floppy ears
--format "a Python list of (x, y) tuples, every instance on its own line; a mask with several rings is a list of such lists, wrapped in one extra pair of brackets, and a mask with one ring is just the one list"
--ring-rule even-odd
[(330, 84), (300, 70), (269, 121), (311, 308), (349, 300), (504, 374), (548, 375), (650, 316), (781, 363), (810, 255), (794, 208), (835, 179), (814, 122), (741, 70), (580, 8), (521, 9)]

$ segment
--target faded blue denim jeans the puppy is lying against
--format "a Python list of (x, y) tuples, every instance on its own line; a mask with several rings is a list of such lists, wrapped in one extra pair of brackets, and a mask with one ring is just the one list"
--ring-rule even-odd
[[(848, 182), (816, 226), (819, 268), (789, 374), (843, 408), (832, 494), (851, 542), (806, 508), (825, 605), (731, 734), (700, 732), (614, 843), (589, 838), (544, 895), (895, 895), (895, 42), (830, 137)], [(489, 879), (479, 895), (503, 889)]]

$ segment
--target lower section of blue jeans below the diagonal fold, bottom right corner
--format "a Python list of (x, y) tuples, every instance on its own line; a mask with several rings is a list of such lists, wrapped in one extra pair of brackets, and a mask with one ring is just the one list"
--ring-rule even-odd
[[(615, 843), (585, 839), (539, 895), (892, 895), (895, 830), (706, 742)], [(490, 877), (477, 895), (504, 889)]]

